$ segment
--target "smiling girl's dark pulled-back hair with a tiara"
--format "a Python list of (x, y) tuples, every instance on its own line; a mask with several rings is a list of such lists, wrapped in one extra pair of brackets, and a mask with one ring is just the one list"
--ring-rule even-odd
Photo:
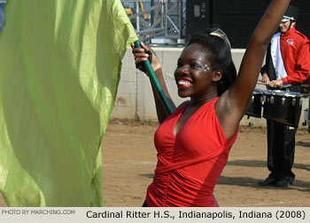
[(217, 93), (221, 96), (236, 80), (236, 67), (231, 58), (229, 39), (219, 27), (208, 27), (205, 31), (192, 35), (186, 46), (192, 43), (203, 46), (205, 57), (211, 62), (213, 71), (222, 70), (221, 80), (214, 82)]

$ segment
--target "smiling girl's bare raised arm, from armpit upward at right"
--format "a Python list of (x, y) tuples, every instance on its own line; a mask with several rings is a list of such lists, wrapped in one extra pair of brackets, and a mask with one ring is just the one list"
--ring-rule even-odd
[(260, 74), (268, 43), (275, 34), (290, 2), (290, 0), (274, 0), (269, 4), (252, 34), (236, 82), (215, 105), (221, 127), (228, 139), (235, 135), (239, 122), (244, 116), (249, 97)]

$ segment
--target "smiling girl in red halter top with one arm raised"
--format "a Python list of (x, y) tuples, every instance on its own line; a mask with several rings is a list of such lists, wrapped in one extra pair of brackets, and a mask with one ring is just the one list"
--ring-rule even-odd
[[(252, 34), (240, 70), (232, 62), (229, 40), (219, 28), (192, 35), (174, 71), (178, 95), (190, 97), (167, 115), (153, 88), (160, 126), (154, 142), (158, 163), (143, 206), (217, 206), (213, 188), (228, 162), (239, 122), (256, 86), (268, 42), (289, 0), (274, 0)], [(136, 66), (150, 49), (132, 44)], [(172, 107), (158, 59), (152, 67)]]

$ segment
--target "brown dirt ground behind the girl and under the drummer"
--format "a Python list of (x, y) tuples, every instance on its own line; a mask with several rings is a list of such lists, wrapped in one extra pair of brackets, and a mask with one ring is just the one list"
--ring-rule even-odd
[[(105, 206), (141, 206), (156, 165), (153, 122), (110, 121), (103, 142)], [(221, 206), (310, 206), (310, 134), (298, 129), (291, 188), (259, 187), (267, 177), (266, 129), (241, 127), (214, 195)], [(0, 206), (5, 206), (0, 196)]]

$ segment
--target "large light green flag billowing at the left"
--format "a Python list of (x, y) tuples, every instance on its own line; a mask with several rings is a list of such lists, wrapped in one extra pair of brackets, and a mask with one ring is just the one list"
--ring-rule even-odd
[(102, 206), (100, 144), (134, 28), (120, 0), (9, 0), (0, 33), (8, 206)]

